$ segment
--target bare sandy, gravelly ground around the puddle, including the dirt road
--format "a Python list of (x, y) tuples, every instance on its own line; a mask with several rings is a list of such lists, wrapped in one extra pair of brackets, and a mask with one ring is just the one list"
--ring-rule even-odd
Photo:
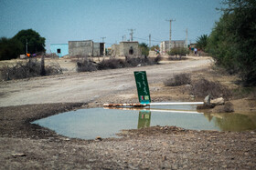
[[(64, 75), (1, 82), (0, 169), (255, 169), (255, 130), (235, 133), (155, 126), (123, 131), (119, 139), (80, 140), (30, 124), (69, 110), (137, 102), (133, 78), (137, 70), (147, 72), (154, 101), (193, 101), (186, 86), (163, 85), (176, 73), (207, 76), (236, 87), (236, 77), (208, 71), (211, 61), (193, 57), (165, 65), (78, 74), (73, 63), (61, 60), (67, 68)], [(232, 102), (235, 110), (254, 113), (254, 100)]]

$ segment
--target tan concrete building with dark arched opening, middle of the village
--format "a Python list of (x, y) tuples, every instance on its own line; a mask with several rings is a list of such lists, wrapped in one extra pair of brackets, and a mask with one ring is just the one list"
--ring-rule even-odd
[(112, 45), (111, 55), (125, 56), (125, 55), (141, 55), (139, 43), (137, 41), (123, 41), (119, 45)]

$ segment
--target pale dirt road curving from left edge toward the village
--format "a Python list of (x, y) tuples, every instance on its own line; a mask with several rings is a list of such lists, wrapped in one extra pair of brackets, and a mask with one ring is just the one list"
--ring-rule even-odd
[[(133, 71), (146, 71), (150, 87), (175, 73), (192, 72), (208, 67), (211, 59), (195, 58), (167, 65), (65, 73), (0, 83), (0, 106), (49, 103), (88, 103), (120, 91), (135, 90)], [(135, 93), (135, 91), (133, 91)], [(133, 95), (132, 93), (132, 95)], [(129, 95), (129, 94), (126, 94)]]

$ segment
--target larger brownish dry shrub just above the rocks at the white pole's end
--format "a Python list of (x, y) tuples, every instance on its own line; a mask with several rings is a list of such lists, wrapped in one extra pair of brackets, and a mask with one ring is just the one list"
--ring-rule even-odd
[(205, 97), (207, 95), (213, 97), (223, 96), (226, 99), (231, 95), (229, 89), (220, 85), (219, 82), (211, 82), (204, 78), (192, 83), (192, 94), (197, 97)]

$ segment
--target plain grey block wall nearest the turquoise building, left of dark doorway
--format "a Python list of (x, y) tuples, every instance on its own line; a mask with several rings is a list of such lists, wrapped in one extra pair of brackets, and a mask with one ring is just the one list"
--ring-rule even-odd
[(93, 42), (87, 41), (69, 41), (69, 56), (93, 55)]

